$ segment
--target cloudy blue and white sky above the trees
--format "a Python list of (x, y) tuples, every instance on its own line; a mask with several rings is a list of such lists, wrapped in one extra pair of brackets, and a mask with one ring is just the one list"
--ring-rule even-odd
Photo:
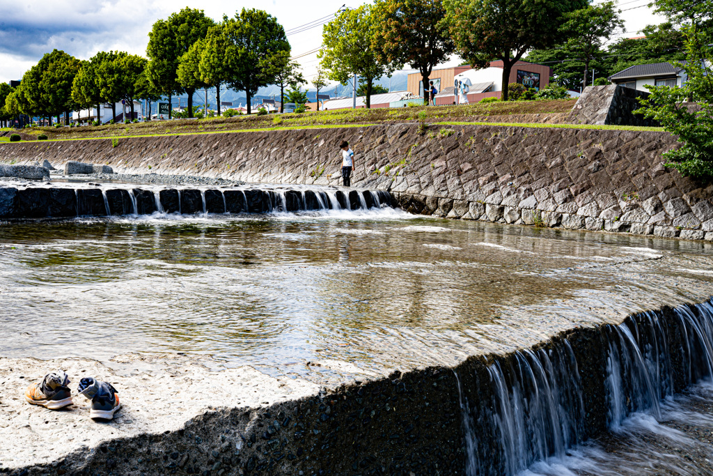
[[(647, 24), (660, 23), (645, 6), (650, 0), (619, 0), (626, 34), (637, 36)], [(277, 17), (289, 34), (292, 56), (300, 56), (305, 76), (317, 70), (317, 54), (304, 53), (322, 44), (322, 26), (310, 24), (334, 14), (343, 4), (356, 7), (359, 0), (247, 0), (240, 4), (225, 0), (0, 0), (0, 81), (21, 79), (48, 51), (62, 49), (80, 59), (97, 51), (119, 50), (145, 56), (148, 31), (157, 19), (165, 19), (183, 6), (203, 9), (215, 20), (232, 16), (242, 7), (264, 9)], [(312, 23), (314, 24), (314, 23)], [(300, 26), (305, 26), (299, 29)], [(294, 34), (290, 34), (294, 32)], [(458, 64), (453, 58), (447, 66)], [(311, 78), (308, 78), (311, 79)]]

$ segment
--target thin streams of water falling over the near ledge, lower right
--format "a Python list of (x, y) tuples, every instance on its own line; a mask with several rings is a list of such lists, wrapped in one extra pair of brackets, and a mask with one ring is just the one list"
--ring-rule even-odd
[[(466, 475), (517, 475), (535, 462), (563, 457), (594, 435), (595, 426), (616, 430), (633, 412), (660, 420), (662, 398), (713, 376), (711, 301), (630, 316), (603, 326), (599, 335), (601, 355), (582, 341), (573, 346), (559, 338), (496, 358), (487, 367), (489, 383), (481, 379), (471, 389), (477, 401), (468, 401), (456, 374)], [(588, 371), (601, 362), (606, 375), (599, 387), (593, 375), (580, 375), (578, 358)]]

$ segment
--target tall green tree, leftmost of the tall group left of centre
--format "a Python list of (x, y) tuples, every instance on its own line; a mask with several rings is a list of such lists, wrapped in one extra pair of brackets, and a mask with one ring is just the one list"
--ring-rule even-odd
[[(148, 34), (146, 54), (151, 59), (148, 77), (156, 90), (171, 96), (174, 93), (188, 94), (188, 111), (193, 111), (195, 89), (184, 88), (178, 81), (180, 58), (199, 39), (204, 39), (212, 19), (202, 10), (185, 8), (171, 14), (166, 20), (158, 20)], [(170, 97), (169, 97), (170, 103)], [(170, 110), (170, 109), (169, 109)]]

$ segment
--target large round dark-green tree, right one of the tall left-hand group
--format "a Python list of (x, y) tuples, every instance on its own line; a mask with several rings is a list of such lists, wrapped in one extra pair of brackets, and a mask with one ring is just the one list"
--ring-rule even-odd
[(247, 113), (257, 89), (275, 83), (272, 66), (281, 51), (288, 51), (284, 28), (274, 16), (257, 9), (242, 9), (235, 18), (223, 17), (227, 41), (231, 46), (230, 86), (245, 91)]

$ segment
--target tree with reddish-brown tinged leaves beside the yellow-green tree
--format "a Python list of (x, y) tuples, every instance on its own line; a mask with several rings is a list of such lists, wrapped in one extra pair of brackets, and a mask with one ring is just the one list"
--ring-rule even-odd
[(376, 0), (374, 35), (371, 37), (379, 60), (394, 69), (404, 64), (419, 70), (425, 91), (434, 66), (455, 51), (453, 36), (443, 21), (446, 9), (441, 0)]

